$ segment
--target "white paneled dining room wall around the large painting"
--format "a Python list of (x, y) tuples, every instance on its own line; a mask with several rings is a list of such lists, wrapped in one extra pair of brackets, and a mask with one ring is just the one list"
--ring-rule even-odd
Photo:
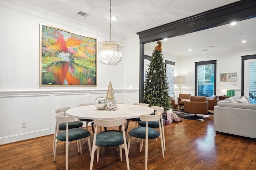
[[(97, 59), (97, 86), (40, 87), (40, 23), (108, 41), (98, 27), (29, 6), (19, 1), (0, 1), (0, 145), (54, 133), (55, 109), (93, 103), (106, 95), (112, 82), (117, 102), (138, 102), (139, 40), (134, 33), (112, 39), (124, 43), (124, 57), (117, 66)], [(26, 121), (26, 128), (21, 123)]]

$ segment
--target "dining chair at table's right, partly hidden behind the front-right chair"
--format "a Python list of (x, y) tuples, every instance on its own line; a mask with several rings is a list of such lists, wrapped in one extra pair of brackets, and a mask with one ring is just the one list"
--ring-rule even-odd
[[(163, 117), (163, 113), (164, 113), (164, 107), (160, 107), (160, 106), (151, 106), (152, 109), (154, 109), (154, 111), (158, 111), (161, 113), (161, 116)], [(161, 140), (164, 143), (164, 151), (165, 151), (165, 137), (164, 137), (164, 123), (163, 123), (163, 118), (161, 117), (161, 126), (158, 125), (158, 121), (151, 121), (148, 122), (148, 127), (152, 127), (152, 128), (156, 128), (159, 129), (159, 131), (162, 131), (162, 138)], [(138, 124), (140, 126), (146, 126), (146, 121), (139, 121)]]

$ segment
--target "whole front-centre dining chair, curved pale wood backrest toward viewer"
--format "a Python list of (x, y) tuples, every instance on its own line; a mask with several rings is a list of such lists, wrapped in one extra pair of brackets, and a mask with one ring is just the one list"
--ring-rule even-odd
[[(121, 161), (122, 161), (122, 148), (124, 149), (127, 169), (130, 170), (128, 149), (127, 149), (127, 143), (126, 143), (126, 135), (124, 132), (125, 121), (126, 121), (125, 117), (112, 119), (112, 120), (94, 118), (94, 124), (96, 127), (95, 127), (93, 143), (92, 143), (92, 155), (91, 155), (91, 162), (90, 162), (90, 170), (92, 170), (92, 167), (93, 167), (95, 150), (97, 150), (97, 162), (99, 162), (100, 147), (117, 147), (117, 146), (119, 146)], [(120, 131), (102, 131), (100, 133), (97, 133), (98, 126), (99, 127), (121, 126), (122, 132), (120, 132)]]

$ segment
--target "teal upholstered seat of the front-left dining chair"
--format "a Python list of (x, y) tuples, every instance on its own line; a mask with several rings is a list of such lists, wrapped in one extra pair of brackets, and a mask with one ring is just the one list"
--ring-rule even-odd
[[(91, 133), (82, 128), (73, 128), (68, 130), (68, 141), (76, 141), (90, 136)], [(66, 141), (66, 131), (62, 131), (57, 135), (57, 139), (60, 141)]]

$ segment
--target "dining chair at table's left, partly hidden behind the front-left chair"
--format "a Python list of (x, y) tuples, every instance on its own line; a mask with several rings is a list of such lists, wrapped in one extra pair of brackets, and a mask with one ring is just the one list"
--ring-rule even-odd
[[(66, 115), (66, 111), (70, 109), (70, 107), (60, 107), (55, 109), (55, 115), (60, 112), (64, 112), (64, 115)], [(68, 123), (68, 128), (79, 128), (83, 126), (83, 122), (81, 121), (73, 121)], [(55, 143), (57, 141), (56, 135), (60, 133), (61, 131), (66, 130), (66, 123), (59, 123), (55, 121), (55, 129), (54, 129), (54, 138), (53, 138), (53, 148), (52, 148), (52, 155), (54, 155), (54, 149), (55, 149)], [(80, 152), (79, 146), (78, 146), (78, 152)]]

